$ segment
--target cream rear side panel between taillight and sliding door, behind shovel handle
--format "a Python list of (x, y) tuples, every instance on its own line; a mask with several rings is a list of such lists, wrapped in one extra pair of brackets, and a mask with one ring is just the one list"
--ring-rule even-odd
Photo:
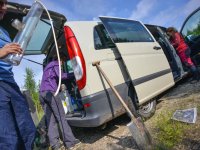
[(69, 26), (74, 31), (86, 62), (87, 79), (85, 88), (80, 91), (82, 97), (110, 88), (97, 68), (92, 66), (92, 63), (95, 61), (101, 62), (101, 68), (109, 79), (111, 79), (114, 86), (126, 82), (127, 77), (123, 74), (125, 70), (122, 64), (116, 61), (113, 49), (95, 50), (93, 32), (94, 27), (98, 25), (97, 22), (79, 22), (78, 24), (76, 22), (67, 22), (65, 25)]

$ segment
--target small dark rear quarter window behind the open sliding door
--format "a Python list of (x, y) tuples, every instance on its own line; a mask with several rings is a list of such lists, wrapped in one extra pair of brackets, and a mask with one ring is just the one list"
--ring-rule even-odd
[(115, 47), (115, 44), (112, 42), (108, 32), (102, 24), (94, 28), (94, 47), (96, 50)]

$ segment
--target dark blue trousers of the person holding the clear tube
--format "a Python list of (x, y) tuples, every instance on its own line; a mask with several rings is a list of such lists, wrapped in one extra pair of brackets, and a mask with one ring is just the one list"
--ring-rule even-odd
[(35, 125), (16, 83), (0, 81), (0, 149), (31, 150)]

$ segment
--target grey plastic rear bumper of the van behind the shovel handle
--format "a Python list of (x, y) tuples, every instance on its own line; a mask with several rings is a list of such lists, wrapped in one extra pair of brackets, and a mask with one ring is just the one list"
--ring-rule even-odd
[[(127, 85), (121, 84), (116, 86), (117, 91), (124, 100), (127, 98)], [(98, 92), (94, 95), (84, 97), (83, 104), (90, 104), (85, 108), (84, 117), (67, 118), (68, 123), (75, 127), (97, 127), (125, 113), (119, 100), (116, 98), (111, 89)]]

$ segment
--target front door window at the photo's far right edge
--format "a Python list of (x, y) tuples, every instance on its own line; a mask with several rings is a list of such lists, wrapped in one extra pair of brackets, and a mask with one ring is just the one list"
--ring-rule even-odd
[(193, 14), (185, 23), (182, 35), (189, 41), (195, 41), (200, 36), (200, 10)]

